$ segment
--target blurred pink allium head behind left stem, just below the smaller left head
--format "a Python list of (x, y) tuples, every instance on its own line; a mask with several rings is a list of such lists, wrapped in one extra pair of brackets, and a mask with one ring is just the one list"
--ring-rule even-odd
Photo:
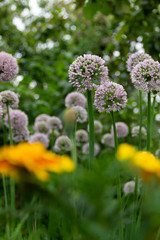
[[(21, 110), (11, 110), (9, 112), (9, 116), (11, 121), (11, 128), (22, 129), (28, 125), (28, 117)], [(5, 125), (9, 127), (7, 115), (4, 118), (4, 122), (5, 122)]]

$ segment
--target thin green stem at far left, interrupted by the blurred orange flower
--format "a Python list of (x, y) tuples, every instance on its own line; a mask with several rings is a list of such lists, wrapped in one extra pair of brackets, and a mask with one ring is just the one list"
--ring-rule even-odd
[[(10, 145), (13, 145), (12, 128), (11, 128), (11, 120), (10, 120), (8, 105), (7, 105), (7, 115), (8, 115), (8, 125), (9, 125)], [(12, 210), (15, 210), (15, 183), (12, 179), (10, 179), (10, 194), (11, 194), (11, 208), (12, 208)]]

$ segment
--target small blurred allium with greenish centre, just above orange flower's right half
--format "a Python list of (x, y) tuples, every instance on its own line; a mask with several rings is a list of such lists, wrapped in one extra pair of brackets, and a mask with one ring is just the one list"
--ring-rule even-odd
[(71, 150), (71, 140), (67, 136), (60, 136), (56, 139), (54, 150), (56, 152), (68, 152)]

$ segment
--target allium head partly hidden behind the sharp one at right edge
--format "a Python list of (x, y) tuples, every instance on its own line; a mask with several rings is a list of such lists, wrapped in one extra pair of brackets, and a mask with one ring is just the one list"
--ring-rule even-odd
[(147, 54), (147, 53), (143, 53), (143, 52), (136, 52), (133, 53), (129, 56), (128, 60), (127, 60), (127, 71), (131, 72), (132, 69), (140, 62), (143, 62), (145, 60), (148, 59), (152, 59), (152, 57)]

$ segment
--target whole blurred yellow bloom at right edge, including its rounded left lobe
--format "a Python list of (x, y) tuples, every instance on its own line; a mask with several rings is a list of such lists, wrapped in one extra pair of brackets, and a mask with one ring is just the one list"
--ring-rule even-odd
[(154, 175), (160, 177), (160, 160), (148, 151), (136, 151), (133, 146), (122, 143), (117, 150), (117, 159), (129, 160), (131, 166), (141, 170), (144, 180)]

